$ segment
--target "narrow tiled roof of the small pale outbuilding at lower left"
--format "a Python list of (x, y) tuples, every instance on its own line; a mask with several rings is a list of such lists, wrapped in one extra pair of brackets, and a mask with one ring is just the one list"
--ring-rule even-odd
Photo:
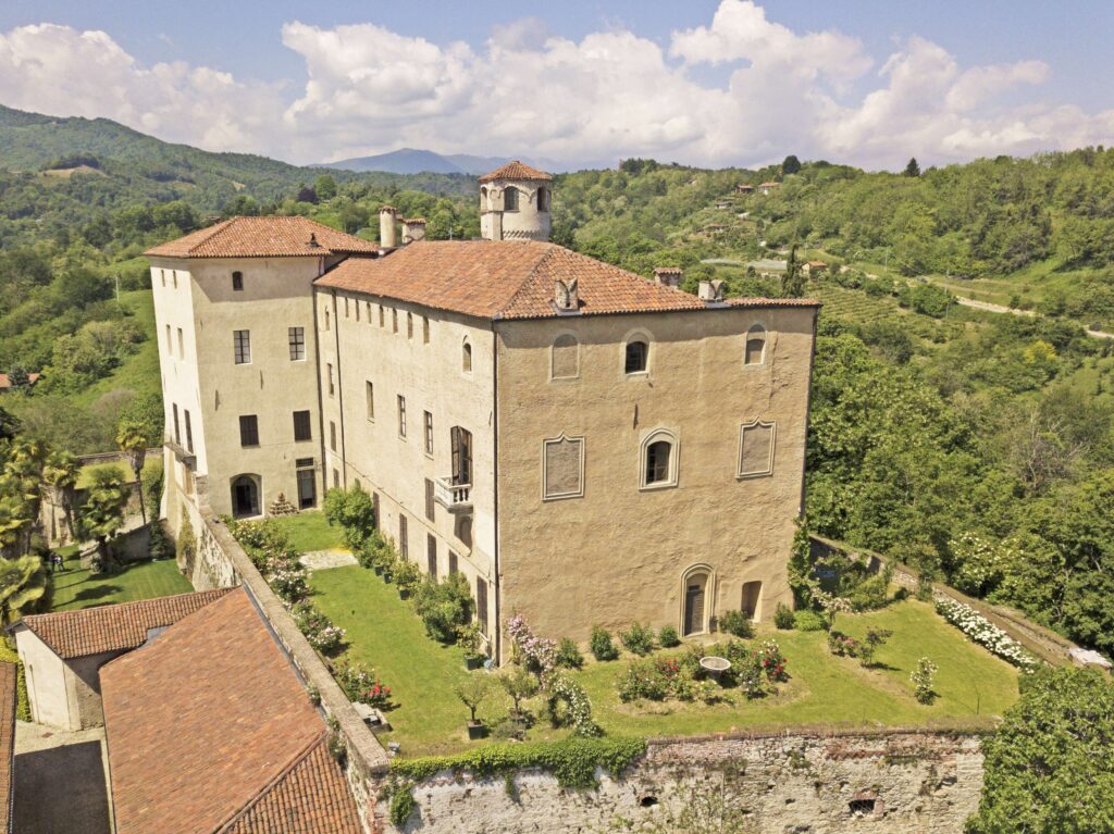
[(80, 611), (36, 614), (25, 617), (23, 625), (61, 658), (121, 651), (143, 646), (150, 629), (172, 626), (227, 592), (227, 588), (217, 588)]

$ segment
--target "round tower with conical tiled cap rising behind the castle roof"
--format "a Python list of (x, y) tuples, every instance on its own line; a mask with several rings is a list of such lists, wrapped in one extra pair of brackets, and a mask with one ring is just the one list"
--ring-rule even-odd
[(548, 241), (553, 177), (517, 159), (480, 177), (480, 234), (488, 241)]

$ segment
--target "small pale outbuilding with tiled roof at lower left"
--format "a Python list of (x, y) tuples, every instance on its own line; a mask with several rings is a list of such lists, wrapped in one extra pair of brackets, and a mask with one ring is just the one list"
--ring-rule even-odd
[(222, 588), (25, 617), (11, 632), (27, 673), (32, 718), (65, 729), (100, 726), (100, 667), (227, 592)]

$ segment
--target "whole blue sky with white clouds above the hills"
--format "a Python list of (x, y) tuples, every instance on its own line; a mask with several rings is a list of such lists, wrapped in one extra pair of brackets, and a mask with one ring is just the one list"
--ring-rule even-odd
[(1111, 2), (6, 0), (0, 102), (294, 161), (409, 145), (886, 167), (1111, 144)]

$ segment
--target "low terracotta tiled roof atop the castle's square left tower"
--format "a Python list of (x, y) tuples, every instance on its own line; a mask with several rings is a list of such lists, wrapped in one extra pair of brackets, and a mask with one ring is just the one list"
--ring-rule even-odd
[[(316, 246), (310, 243), (311, 236)], [(306, 217), (233, 217), (147, 249), (159, 257), (295, 257), (378, 252), (379, 246)]]

